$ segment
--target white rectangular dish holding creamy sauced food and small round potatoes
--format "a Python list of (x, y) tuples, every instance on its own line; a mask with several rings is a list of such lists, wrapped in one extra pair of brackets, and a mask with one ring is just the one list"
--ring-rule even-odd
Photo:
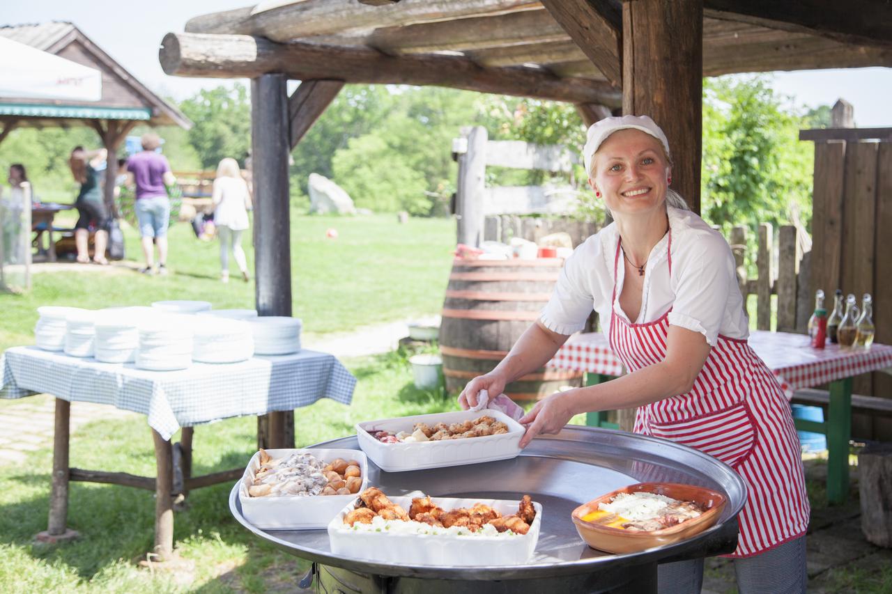
[[(359, 450), (326, 450), (323, 448), (266, 450), (274, 459), (294, 452), (307, 452), (328, 464), (335, 458), (356, 460), (362, 472), (359, 492), (368, 487), (368, 458)], [(325, 528), (356, 495), (315, 495), (311, 497), (251, 497), (248, 487), (260, 468), (260, 452), (255, 452), (240, 479), (238, 499), (242, 514), (251, 524), (263, 530), (318, 530)]]

